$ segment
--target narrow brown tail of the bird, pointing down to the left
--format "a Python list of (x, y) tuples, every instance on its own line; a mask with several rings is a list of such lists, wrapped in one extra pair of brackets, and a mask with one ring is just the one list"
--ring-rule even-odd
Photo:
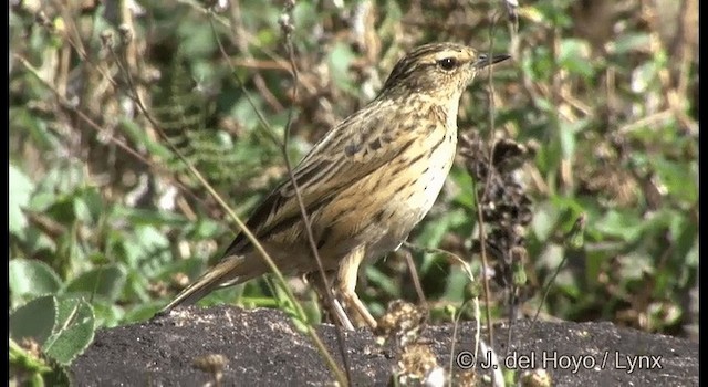
[(175, 300), (167, 304), (162, 311), (157, 312), (156, 315), (167, 314), (179, 305), (191, 305), (219, 287), (235, 285), (248, 280), (247, 278), (238, 275), (239, 272), (242, 271), (241, 266), (243, 263), (244, 260), (241, 257), (230, 257), (222, 260), (204, 273), (191, 285), (179, 292)]

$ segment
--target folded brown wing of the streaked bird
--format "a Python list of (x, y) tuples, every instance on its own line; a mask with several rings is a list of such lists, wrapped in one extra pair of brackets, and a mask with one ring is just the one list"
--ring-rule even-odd
[[(415, 121), (409, 128), (405, 123), (394, 123), (392, 109), (391, 101), (373, 102), (331, 129), (295, 167), (294, 179), (309, 215), (413, 145), (413, 133), (408, 136), (399, 133), (413, 132)], [(246, 226), (259, 240), (266, 240), (300, 220), (295, 190), (291, 179), (285, 178), (257, 207)], [(225, 257), (241, 254), (249, 245), (249, 239), (241, 232)]]

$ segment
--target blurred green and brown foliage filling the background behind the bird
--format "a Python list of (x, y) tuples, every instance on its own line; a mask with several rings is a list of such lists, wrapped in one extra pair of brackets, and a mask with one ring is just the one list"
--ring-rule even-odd
[[(71, 362), (95, 327), (148, 318), (233, 237), (129, 96), (247, 217), (285, 172), (272, 136), (282, 139), (291, 108), (296, 161), (375, 95), (406, 50), (447, 40), (513, 56), (492, 83), (470, 86), (459, 128), (489, 138), (491, 112), (494, 135), (537, 144), (520, 169), (534, 198), (520, 311), (696, 334), (695, 4), (538, 0), (510, 13), (497, 1), (299, 1), (295, 94), (277, 2), (11, 2), (11, 339), (32, 337), (50, 359), (30, 367), (27, 345), (13, 347), (27, 372), (18, 377)], [(449, 250), (478, 274), (471, 187), (459, 164), (409, 241)], [(569, 249), (580, 213), (584, 243)], [(468, 276), (442, 254), (414, 257), (433, 321), (449, 321), (445, 307), (469, 296)], [(362, 273), (374, 314), (416, 300), (394, 254)], [(282, 305), (274, 289), (256, 280), (204, 303)], [(491, 297), (498, 317), (506, 291)]]

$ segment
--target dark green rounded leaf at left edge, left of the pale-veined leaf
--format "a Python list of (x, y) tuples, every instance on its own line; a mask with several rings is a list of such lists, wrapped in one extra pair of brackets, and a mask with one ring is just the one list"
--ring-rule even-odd
[(45, 295), (34, 299), (10, 313), (10, 337), (15, 342), (31, 337), (44, 344), (56, 320), (56, 299)]

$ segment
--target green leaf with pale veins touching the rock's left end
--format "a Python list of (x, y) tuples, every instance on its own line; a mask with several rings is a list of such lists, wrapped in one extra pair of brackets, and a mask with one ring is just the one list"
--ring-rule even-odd
[(59, 364), (69, 365), (91, 344), (94, 336), (94, 314), (83, 299), (59, 301), (56, 325), (43, 346), (44, 353)]

